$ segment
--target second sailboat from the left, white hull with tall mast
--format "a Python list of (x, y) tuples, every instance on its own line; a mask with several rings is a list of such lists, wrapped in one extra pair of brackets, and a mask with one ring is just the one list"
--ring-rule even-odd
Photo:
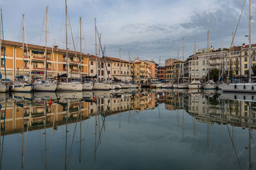
[[(24, 31), (25, 31), (25, 24), (24, 24), (24, 14), (22, 14), (22, 56), (23, 56), (23, 75), (20, 76), (19, 80), (15, 80), (12, 84), (12, 91), (13, 92), (31, 92), (33, 90), (33, 85), (31, 83), (27, 83), (25, 81), (25, 74), (24, 74)], [(28, 52), (28, 45), (27, 52)], [(15, 68), (13, 69), (15, 72)], [(21, 79), (21, 80), (20, 80)]]

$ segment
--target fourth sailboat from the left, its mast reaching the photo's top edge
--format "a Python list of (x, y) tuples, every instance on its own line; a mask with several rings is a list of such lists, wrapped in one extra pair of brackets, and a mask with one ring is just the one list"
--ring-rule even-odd
[[(65, 30), (66, 30), (66, 61), (67, 61), (67, 78), (66, 82), (60, 82), (57, 85), (57, 90), (61, 91), (82, 91), (83, 84), (80, 81), (70, 81), (68, 82), (68, 30), (67, 30), (67, 0), (65, 1)], [(71, 26), (70, 26), (71, 29)], [(74, 42), (73, 42), (74, 43)]]

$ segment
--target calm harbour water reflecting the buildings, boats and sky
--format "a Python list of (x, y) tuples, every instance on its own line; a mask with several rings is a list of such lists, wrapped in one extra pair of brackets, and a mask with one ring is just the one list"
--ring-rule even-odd
[(250, 94), (125, 90), (0, 95), (1, 169), (256, 166), (256, 96)]

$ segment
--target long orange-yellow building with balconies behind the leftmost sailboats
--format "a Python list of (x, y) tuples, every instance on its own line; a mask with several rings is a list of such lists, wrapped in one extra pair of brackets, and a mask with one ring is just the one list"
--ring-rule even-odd
[[(3, 43), (2, 43), (3, 45)], [(4, 53), (6, 58), (6, 77), (13, 80), (15, 76), (21, 75), (24, 69), (25, 76), (44, 76), (45, 47), (39, 45), (24, 44), (24, 65), (22, 43), (14, 41), (4, 41)], [(3, 46), (1, 48), (1, 74), (4, 75)], [(53, 53), (52, 53), (53, 51)], [(66, 50), (47, 47), (47, 76), (53, 77), (58, 74), (67, 73)], [(88, 56), (68, 50), (68, 76), (79, 77), (79, 66), (81, 64), (82, 76), (88, 76)], [(15, 69), (13, 69), (15, 68)]]

